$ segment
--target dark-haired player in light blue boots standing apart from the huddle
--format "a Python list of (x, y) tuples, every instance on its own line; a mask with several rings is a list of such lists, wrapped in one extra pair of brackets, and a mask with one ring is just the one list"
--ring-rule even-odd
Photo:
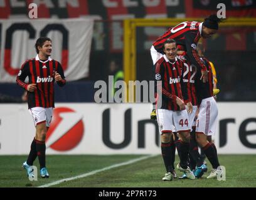
[[(28, 91), (28, 109), (33, 117), (36, 134), (31, 143), (28, 159), (23, 168), (29, 177), (34, 177), (30, 166), (38, 156), (41, 178), (48, 178), (49, 174), (45, 164), (45, 138), (51, 123), (54, 108), (54, 83), (64, 86), (66, 83), (61, 64), (51, 59), (51, 39), (40, 37), (36, 44), (36, 58), (29, 59), (22, 66), (16, 83)], [(28, 83), (25, 79), (28, 77)]]

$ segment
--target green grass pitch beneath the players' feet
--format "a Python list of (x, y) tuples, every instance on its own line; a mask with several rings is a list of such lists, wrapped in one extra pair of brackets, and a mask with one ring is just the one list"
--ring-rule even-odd
[[(50, 178), (42, 179), (38, 172), (38, 181), (29, 181), (21, 168), (26, 156), (0, 156), (0, 187), (38, 187), (142, 156), (47, 156), (46, 164)], [(206, 179), (211, 168), (208, 160), (209, 170), (201, 179), (161, 181), (165, 173), (164, 164), (161, 155), (157, 155), (51, 187), (256, 187), (255, 155), (220, 155), (219, 159), (221, 165), (226, 168), (226, 181)], [(178, 161), (176, 157), (175, 163)], [(35, 166), (39, 166), (37, 159)], [(180, 172), (177, 173), (181, 175)]]

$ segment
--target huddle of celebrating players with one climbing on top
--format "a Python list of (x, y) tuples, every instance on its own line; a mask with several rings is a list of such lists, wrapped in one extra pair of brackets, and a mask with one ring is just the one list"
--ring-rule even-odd
[(218, 117), (213, 94), (215, 79), (210, 62), (199, 56), (197, 49), (200, 37), (215, 34), (220, 21), (211, 15), (204, 22), (182, 22), (168, 29), (151, 47), (154, 80), (161, 81), (155, 88), (161, 101), (153, 105), (151, 118), (156, 111), (166, 167), (163, 181), (177, 178), (174, 170), (176, 148), (180, 160), (176, 168), (184, 173), (180, 178), (201, 178), (207, 171), (198, 146), (212, 166), (207, 178), (216, 178), (222, 173), (215, 144), (211, 141)]

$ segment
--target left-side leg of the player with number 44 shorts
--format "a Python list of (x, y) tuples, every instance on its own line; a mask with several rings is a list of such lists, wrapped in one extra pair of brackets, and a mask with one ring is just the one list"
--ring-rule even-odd
[(161, 134), (161, 153), (166, 168), (163, 181), (171, 181), (173, 179), (173, 149), (175, 148), (173, 142), (173, 120), (172, 111), (167, 109), (157, 109), (157, 123), (159, 127), (159, 133)]

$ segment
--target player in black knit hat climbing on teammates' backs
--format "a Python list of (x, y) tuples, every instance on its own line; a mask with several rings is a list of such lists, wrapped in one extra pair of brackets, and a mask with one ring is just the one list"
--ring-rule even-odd
[[(203, 83), (208, 81), (206, 66), (201, 62), (198, 53), (196, 52), (196, 44), (200, 37), (209, 38), (218, 30), (218, 23), (221, 19), (214, 14), (205, 18), (204, 22), (185, 21), (175, 27), (170, 27), (163, 36), (159, 37), (151, 47), (151, 58), (153, 64), (163, 57), (163, 44), (166, 39), (174, 39), (181, 51), (186, 51), (186, 59), (189, 63), (194, 64), (196, 68), (201, 69), (201, 79)], [(153, 104), (151, 119), (156, 118)]]

